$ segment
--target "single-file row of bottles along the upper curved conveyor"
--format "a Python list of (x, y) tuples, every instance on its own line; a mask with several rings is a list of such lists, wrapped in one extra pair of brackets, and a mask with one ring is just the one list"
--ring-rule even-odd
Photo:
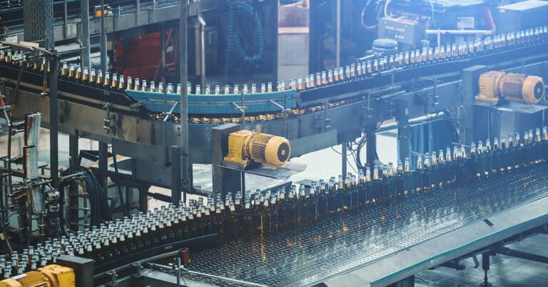
[[(229, 85), (224, 85), (223, 87), (220, 85), (210, 86), (208, 84), (202, 87), (197, 84), (193, 91), (192, 84), (187, 84), (186, 90), (187, 94), (196, 95), (256, 94), (285, 91), (285, 89), (301, 91), (344, 81), (363, 79), (375, 76), (380, 71), (389, 69), (405, 69), (414, 66), (455, 61), (490, 53), (492, 51), (499, 51), (501, 49), (512, 49), (512, 47), (515, 46), (537, 44), (546, 41), (548, 41), (548, 26), (542, 26), (508, 34), (487, 36), (484, 39), (477, 39), (475, 41), (465, 41), (457, 44), (447, 44), (445, 46), (423, 47), (422, 49), (405, 51), (390, 56), (376, 55), (374, 59), (358, 61), (357, 64), (350, 64), (345, 67), (290, 79), (290, 81), (288, 81), (288, 86), (286, 86), (285, 81), (279, 81), (275, 89), (273, 83), (268, 82), (266, 84), (260, 84), (259, 89), (257, 84), (251, 84), (250, 86), (248, 86), (248, 84), (243, 84), (242, 89), (240, 89), (240, 85), (238, 84), (235, 84), (232, 87)], [(10, 49), (0, 51), (0, 63), (6, 62), (18, 65), (26, 63), (27, 69), (39, 69), (40, 71), (44, 71), (44, 69), (49, 70), (45, 59), (35, 61), (31, 58), (29, 61), (21, 61), (24, 57), (24, 54), (17, 50), (14, 51), (14, 54), (12, 54)], [(81, 66), (75, 64), (62, 63), (60, 75), (61, 79), (80, 81), (83, 84), (98, 86), (102, 89), (113, 89), (116, 91), (127, 89), (160, 94), (163, 94), (164, 92), (168, 94), (181, 94), (181, 84), (173, 85), (168, 83), (164, 85), (160, 82), (158, 83), (158, 86), (156, 86), (154, 81), (141, 81), (138, 78), (132, 79), (131, 76), (125, 77), (121, 74), (118, 75), (115, 72), (96, 71), (95, 69), (88, 69), (88, 67), (83, 67), (82, 69)]]

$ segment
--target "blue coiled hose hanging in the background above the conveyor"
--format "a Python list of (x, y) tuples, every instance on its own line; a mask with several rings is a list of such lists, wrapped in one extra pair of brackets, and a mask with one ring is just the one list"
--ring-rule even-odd
[[(237, 9), (242, 9), (243, 11), (248, 11), (249, 14), (253, 16), (255, 21), (255, 28), (257, 31), (257, 51), (253, 55), (248, 55), (243, 49), (242, 43), (240, 42), (240, 37), (238, 36), (238, 31), (234, 26), (235, 12)], [(255, 11), (255, 8), (248, 3), (230, 3), (228, 4), (228, 36), (226, 43), (226, 56), (225, 56), (225, 71), (224, 76), (228, 81), (228, 74), (230, 74), (230, 54), (232, 54), (233, 45), (238, 50), (238, 54), (247, 63), (256, 63), (263, 58), (263, 52), (265, 49), (265, 35), (263, 34), (263, 22), (260, 20), (260, 14), (258, 11)]]

